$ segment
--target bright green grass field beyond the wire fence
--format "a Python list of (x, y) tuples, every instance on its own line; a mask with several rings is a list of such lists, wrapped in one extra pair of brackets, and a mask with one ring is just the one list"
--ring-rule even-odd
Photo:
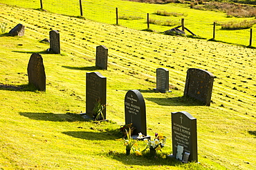
[[(1, 0), (1, 3), (10, 4), (13, 6), (20, 6), (24, 8), (41, 8), (39, 0)], [(68, 4), (68, 6), (66, 6)], [(65, 14), (68, 16), (80, 16), (79, 1), (76, 0), (43, 0), (43, 8), (49, 12), (55, 12), (57, 14)], [(149, 3), (136, 3), (132, 1), (120, 1), (120, 0), (87, 0), (82, 1), (83, 17), (97, 21), (101, 23), (116, 24), (116, 8), (118, 8), (118, 16), (129, 18), (119, 19), (118, 24), (123, 27), (132, 28), (136, 30), (147, 29), (147, 13), (149, 18), (162, 23), (172, 23), (168, 25), (155, 25), (150, 24), (149, 28), (156, 32), (164, 32), (170, 30), (176, 26), (181, 25), (181, 19), (185, 19), (185, 27), (190, 29), (194, 34), (201, 36), (205, 39), (212, 39), (213, 23), (217, 22), (216, 36), (217, 41), (223, 41), (226, 43), (239, 44), (248, 46), (250, 39), (250, 29), (244, 30), (223, 30), (221, 25), (228, 22), (240, 22), (240, 21), (253, 21), (255, 17), (240, 18), (228, 16), (225, 12), (214, 12), (195, 10), (190, 8), (190, 4), (180, 3), (167, 3), (167, 4), (149, 4)], [(178, 16), (161, 16), (156, 14), (158, 10), (166, 12), (177, 13)], [(156, 22), (157, 23), (157, 22)], [(253, 26), (253, 30), (255, 25)], [(190, 34), (187, 32), (187, 34)], [(255, 46), (256, 34), (253, 33), (253, 46)]]

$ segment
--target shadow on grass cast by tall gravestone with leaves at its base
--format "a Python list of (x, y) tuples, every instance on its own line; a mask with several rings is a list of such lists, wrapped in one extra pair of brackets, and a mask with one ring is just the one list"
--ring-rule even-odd
[(82, 118), (80, 114), (53, 114), (53, 113), (34, 113), (34, 112), (20, 112), (21, 116), (25, 116), (27, 118), (33, 120), (44, 120), (44, 121), (52, 121), (52, 122), (77, 122), (77, 121), (87, 121)]

